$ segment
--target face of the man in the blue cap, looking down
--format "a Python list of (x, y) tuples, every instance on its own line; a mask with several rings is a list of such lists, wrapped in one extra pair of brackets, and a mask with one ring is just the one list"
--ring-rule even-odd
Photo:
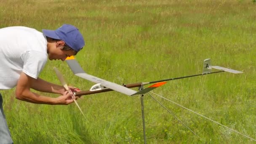
[(56, 43), (52, 43), (52, 45), (49, 45), (50, 48), (48, 48), (48, 58), (50, 60), (64, 61), (68, 56), (73, 56), (76, 54), (73, 50), (64, 51), (64, 45), (65, 42), (62, 40), (56, 41)]

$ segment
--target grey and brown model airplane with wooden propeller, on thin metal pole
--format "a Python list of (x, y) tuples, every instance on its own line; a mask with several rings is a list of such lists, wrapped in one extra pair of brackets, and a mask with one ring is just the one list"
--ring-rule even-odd
[[(189, 76), (184, 76), (184, 77), (176, 77), (176, 78), (170, 78), (170, 79), (164, 79), (164, 80), (156, 80), (156, 81), (151, 81), (151, 82), (142, 82), (142, 83), (118, 85), (116, 83), (112, 83), (112, 82), (109, 82), (107, 80), (103, 80), (99, 77), (95, 77), (93, 75), (87, 74), (82, 69), (80, 64), (75, 60), (74, 56), (67, 57), (66, 61), (67, 61), (67, 64), (69, 65), (70, 69), (72, 70), (72, 72), (76, 76), (82, 77), (86, 80), (89, 80), (93, 83), (96, 83), (88, 91), (73, 92), (73, 100), (75, 101), (75, 104), (77, 105), (77, 107), (79, 109), (80, 109), (80, 107), (79, 107), (79, 105), (77, 104), (77, 102), (75, 100), (75, 96), (83, 96), (83, 95), (88, 95), (88, 94), (93, 94), (93, 93), (102, 93), (102, 92), (107, 92), (107, 91), (118, 91), (118, 92), (123, 93), (123, 94), (128, 95), (128, 96), (141, 95), (141, 112), (142, 112), (144, 143), (145, 144), (146, 144), (146, 130), (145, 130), (144, 106), (143, 106), (143, 95), (145, 93), (148, 93), (149, 91), (152, 91), (153, 89), (155, 89), (157, 87), (160, 87), (161, 85), (164, 85), (166, 83), (166, 81), (169, 81), (169, 80), (177, 80), (177, 79), (182, 79), (182, 78), (187, 78), (187, 77), (208, 75), (208, 74), (219, 73), (219, 72), (231, 72), (231, 73), (234, 73), (234, 74), (243, 73), (243, 72), (240, 72), (240, 71), (237, 71), (237, 70), (234, 70), (234, 69), (228, 69), (228, 68), (220, 67), (220, 66), (212, 66), (211, 65), (211, 59), (205, 59), (204, 62), (203, 62), (203, 73), (202, 74), (189, 75)], [(212, 72), (212, 69), (218, 69), (219, 71)], [(69, 88), (67, 87), (66, 82), (64, 81), (64, 77), (61, 75), (61, 73), (58, 71), (58, 69), (55, 68), (55, 72), (56, 72), (56, 75), (58, 76), (59, 80), (61, 81), (61, 84), (64, 86), (64, 88), (67, 91), (71, 92), (69, 90)], [(144, 89), (144, 85), (152, 84), (152, 83), (155, 83), (155, 84), (153, 84), (153, 85), (149, 86), (148, 88)], [(134, 91), (134, 90), (130, 89), (130, 88), (134, 88), (134, 87), (139, 87), (139, 91)], [(80, 109), (80, 111), (82, 112), (81, 109)], [(82, 112), (82, 114), (83, 114), (83, 112)]]

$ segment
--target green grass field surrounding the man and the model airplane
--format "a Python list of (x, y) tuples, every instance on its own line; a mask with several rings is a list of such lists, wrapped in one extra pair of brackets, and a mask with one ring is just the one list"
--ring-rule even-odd
[[(243, 71), (173, 80), (155, 89), (188, 109), (256, 139), (256, 3), (253, 0), (0, 0), (0, 27), (39, 31), (73, 24), (86, 45), (76, 59), (91, 75), (118, 84), (202, 73), (203, 60)], [(93, 83), (73, 75), (62, 61), (48, 61), (40, 77), (83, 91)], [(15, 99), (1, 91), (16, 144), (143, 143), (140, 97), (117, 92), (83, 96), (51, 106)], [(46, 96), (58, 95), (43, 93)], [(255, 141), (156, 97), (199, 137), (149, 95), (144, 96), (147, 143), (240, 143)]]

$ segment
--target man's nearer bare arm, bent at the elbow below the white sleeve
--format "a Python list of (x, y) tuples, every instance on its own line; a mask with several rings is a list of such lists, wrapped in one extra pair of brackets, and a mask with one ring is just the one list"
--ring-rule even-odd
[(37, 93), (31, 92), (30, 88), (32, 88), (32, 85), (36, 83), (35, 81), (36, 79), (29, 77), (24, 72), (21, 72), (16, 87), (16, 98), (22, 101), (28, 101), (35, 104), (70, 104), (73, 102), (72, 94), (68, 93), (67, 91), (64, 92), (63, 96), (59, 96), (57, 98), (41, 96)]

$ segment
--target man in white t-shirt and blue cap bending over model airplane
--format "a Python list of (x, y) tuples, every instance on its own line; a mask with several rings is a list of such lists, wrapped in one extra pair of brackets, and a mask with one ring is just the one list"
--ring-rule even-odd
[[(16, 99), (35, 104), (70, 104), (72, 94), (61, 85), (55, 85), (38, 77), (47, 57), (64, 61), (75, 55), (85, 45), (79, 30), (64, 24), (56, 30), (43, 29), (43, 33), (28, 27), (0, 29), (0, 90), (16, 86)], [(51, 98), (30, 91), (59, 93)], [(70, 87), (71, 88), (71, 87)], [(0, 143), (13, 143), (3, 112), (0, 93)]]

